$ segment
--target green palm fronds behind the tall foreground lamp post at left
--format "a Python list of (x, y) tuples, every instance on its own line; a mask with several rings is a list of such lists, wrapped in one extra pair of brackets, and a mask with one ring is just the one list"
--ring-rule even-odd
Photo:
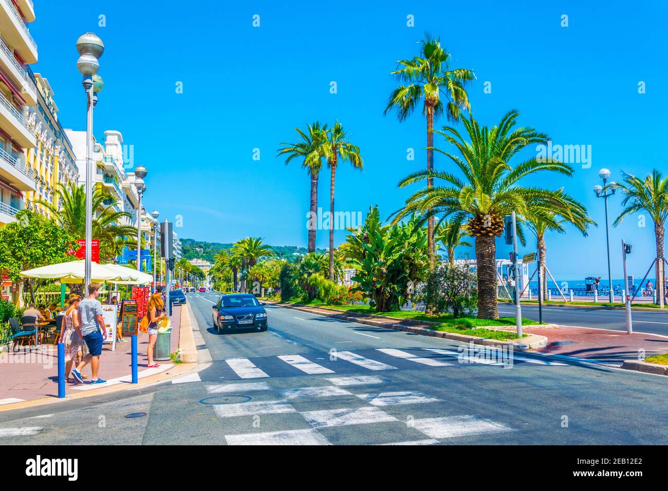
[[(72, 236), (83, 238), (86, 236), (86, 186), (77, 186), (71, 183), (69, 188), (59, 182), (56, 188), (59, 200), (62, 200), (62, 208), (57, 208), (52, 202), (38, 200), (37, 204), (47, 208), (57, 223), (65, 228)], [(120, 212), (114, 209), (114, 203), (105, 205), (106, 200), (112, 196), (102, 188), (94, 188), (92, 195), (92, 232), (93, 238), (100, 240), (100, 257), (112, 259), (119, 254), (126, 244), (136, 244), (137, 229), (132, 225), (122, 225), (124, 218), (132, 218), (128, 212)], [(102, 212), (95, 216), (96, 210), (102, 208)]]

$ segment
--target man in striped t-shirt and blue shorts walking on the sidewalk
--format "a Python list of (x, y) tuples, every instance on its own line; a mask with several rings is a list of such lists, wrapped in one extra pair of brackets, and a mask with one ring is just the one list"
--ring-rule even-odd
[(72, 370), (72, 376), (79, 383), (83, 383), (81, 370), (83, 367), (91, 364), (93, 376), (90, 383), (105, 383), (106, 380), (98, 378), (100, 370), (100, 355), (102, 355), (102, 343), (107, 339), (107, 329), (102, 317), (102, 303), (98, 300), (100, 296), (100, 284), (91, 283), (88, 285), (88, 297), (79, 303), (77, 309), (79, 313), (80, 332), (83, 341), (88, 346), (88, 355), (81, 359), (81, 363)]

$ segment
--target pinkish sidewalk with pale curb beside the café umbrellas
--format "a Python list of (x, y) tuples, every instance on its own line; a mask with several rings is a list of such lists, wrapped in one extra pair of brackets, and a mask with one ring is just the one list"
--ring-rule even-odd
[[(184, 315), (187, 315), (184, 311)], [(171, 349), (174, 353), (178, 349), (181, 306), (175, 305), (172, 310), (172, 337)], [(132, 381), (132, 343), (130, 337), (127, 343), (116, 342), (116, 351), (112, 345), (105, 344), (100, 356), (99, 376), (107, 383), (92, 385), (90, 364), (83, 369), (88, 375), (83, 384), (65, 382), (65, 395), (83, 393), (91, 389), (104, 389), (113, 385), (130, 383)], [(171, 361), (158, 361), (158, 368), (146, 368), (146, 349), (148, 347), (148, 333), (139, 333), (138, 347), (138, 376), (140, 379), (162, 373), (174, 367)], [(58, 395), (58, 361), (57, 346), (51, 343), (43, 345), (43, 351), (30, 351), (27, 347), (18, 347), (19, 351), (2, 353), (0, 355), (0, 407), (5, 404), (32, 401), (43, 397), (57, 397)]]

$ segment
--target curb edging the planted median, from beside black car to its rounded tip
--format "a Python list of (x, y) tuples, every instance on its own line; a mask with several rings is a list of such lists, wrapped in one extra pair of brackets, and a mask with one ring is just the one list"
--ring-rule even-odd
[(484, 346), (498, 346), (498, 345), (512, 345), (513, 349), (516, 349), (518, 351), (527, 351), (528, 349), (538, 349), (538, 348), (544, 348), (548, 345), (548, 339), (545, 336), (537, 335), (537, 334), (531, 334), (528, 335), (528, 337), (522, 338), (522, 342), (518, 341), (500, 341), (497, 339), (489, 339), (486, 337), (476, 337), (476, 336), (470, 336), (466, 334), (457, 334), (457, 333), (448, 333), (445, 331), (434, 331), (434, 329), (427, 329), (425, 327), (414, 327), (416, 324), (417, 325), (438, 325), (440, 324), (439, 322), (432, 322), (432, 321), (416, 321), (415, 319), (395, 319), (394, 317), (384, 317), (377, 315), (378, 319), (392, 319), (392, 320), (397, 320), (401, 321), (401, 324), (395, 324), (395, 323), (390, 323), (390, 322), (382, 322), (382, 321), (374, 321), (371, 319), (365, 319), (363, 317), (357, 317), (355, 315), (345, 315), (344, 313), (341, 313), (341, 311), (337, 311), (336, 309), (329, 309), (327, 307), (323, 307), (322, 310), (326, 311), (331, 311), (331, 312), (337, 312), (337, 313), (318, 313), (317, 310), (321, 309), (321, 307), (317, 307), (317, 309), (313, 309), (313, 307), (308, 307), (306, 305), (300, 305), (300, 304), (293, 304), (293, 303), (281, 303), (281, 302), (276, 302), (276, 301), (271, 301), (271, 300), (265, 300), (266, 303), (271, 303), (272, 305), (278, 305), (279, 307), (286, 307), (288, 309), (295, 309), (298, 311), (302, 312), (311, 312), (311, 313), (317, 313), (319, 315), (323, 315), (325, 317), (331, 317), (333, 319), (341, 319), (343, 321), (349, 321), (349, 322), (355, 322), (358, 324), (365, 324), (365, 325), (371, 325), (373, 327), (383, 327), (383, 329), (392, 329), (393, 331), (404, 331), (407, 333), (413, 333), (413, 334), (420, 334), (423, 336), (432, 336), (432, 337), (441, 337), (444, 339), (452, 339), (453, 341), (463, 341), (464, 343), (474, 343), (478, 345), (484, 345)]

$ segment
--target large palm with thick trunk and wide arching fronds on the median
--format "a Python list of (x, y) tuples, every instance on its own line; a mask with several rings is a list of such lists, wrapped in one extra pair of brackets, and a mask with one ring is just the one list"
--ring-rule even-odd
[(445, 126), (442, 134), (454, 145), (459, 154), (441, 152), (460, 169), (463, 178), (451, 172), (423, 170), (405, 177), (399, 186), (436, 178), (442, 186), (427, 186), (406, 200), (403, 210), (397, 212), (395, 221), (413, 212), (422, 214), (423, 222), (430, 216), (462, 215), (468, 218), (466, 230), (476, 238), (476, 263), (478, 274), (478, 317), (498, 319), (496, 298), (496, 243), (504, 230), (504, 216), (512, 211), (521, 216), (540, 216), (552, 226), (555, 217), (571, 218), (574, 200), (562, 190), (548, 190), (523, 186), (522, 178), (540, 171), (572, 175), (572, 168), (562, 162), (539, 162), (530, 158), (511, 166), (510, 160), (523, 148), (533, 144), (546, 144), (548, 136), (534, 128), (514, 128), (518, 112), (508, 112), (498, 126), (480, 126), (472, 116), (462, 120), (470, 141), (464, 140), (451, 126)]

